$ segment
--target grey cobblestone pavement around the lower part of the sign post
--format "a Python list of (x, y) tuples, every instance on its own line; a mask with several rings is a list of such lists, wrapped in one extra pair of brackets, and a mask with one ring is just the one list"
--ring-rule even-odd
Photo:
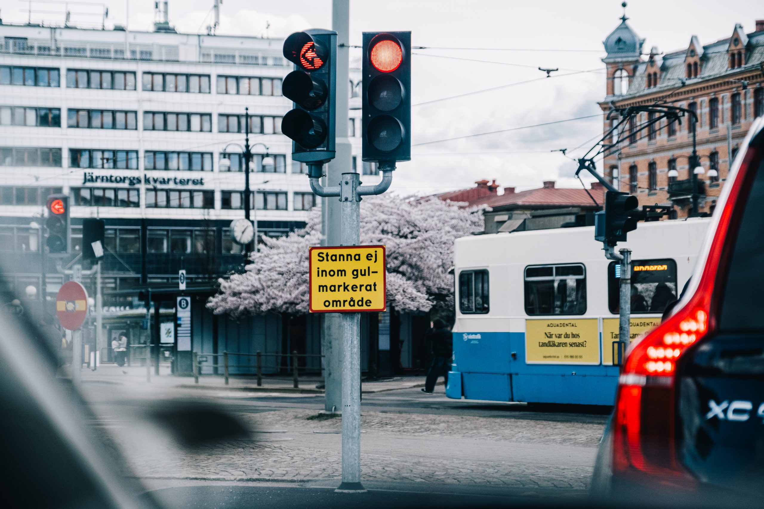
[[(340, 478), (341, 418), (280, 410), (238, 417), (248, 440), (179, 449), (132, 427), (112, 428), (142, 478), (309, 481)], [(363, 412), (362, 479), (588, 488), (603, 425), (454, 415)], [(131, 434), (132, 433), (132, 434)]]

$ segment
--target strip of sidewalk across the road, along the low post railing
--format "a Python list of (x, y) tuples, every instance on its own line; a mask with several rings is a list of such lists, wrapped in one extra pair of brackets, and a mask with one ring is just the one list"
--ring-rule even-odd
[[(222, 375), (200, 375), (199, 383), (194, 382), (193, 376), (176, 376), (170, 374), (170, 366), (161, 365), (159, 375), (154, 375), (151, 369), (150, 382), (147, 382), (146, 368), (141, 366), (116, 366), (115, 364), (102, 364), (95, 371), (83, 369), (83, 383), (102, 383), (118, 385), (152, 385), (154, 387), (167, 388), (191, 388), (199, 390), (227, 390), (248, 392), (271, 392), (290, 394), (323, 394), (323, 380), (316, 376), (299, 377), (299, 388), (293, 387), (291, 376), (264, 376), (263, 385), (257, 386), (257, 378), (254, 376), (235, 375), (225, 379)], [(443, 385), (440, 381), (438, 385)], [(406, 388), (419, 388), (425, 386), (424, 376), (396, 376), (374, 382), (361, 382), (363, 394), (377, 392), (396, 391)]]

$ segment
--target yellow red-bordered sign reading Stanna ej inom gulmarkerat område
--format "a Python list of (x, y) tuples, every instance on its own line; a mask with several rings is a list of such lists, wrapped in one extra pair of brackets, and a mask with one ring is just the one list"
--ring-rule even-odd
[(310, 312), (385, 311), (384, 246), (311, 247)]

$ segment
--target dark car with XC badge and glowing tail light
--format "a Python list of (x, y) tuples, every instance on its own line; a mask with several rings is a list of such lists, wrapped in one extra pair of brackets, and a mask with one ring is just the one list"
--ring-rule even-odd
[(761, 503), (764, 119), (740, 147), (698, 260), (672, 314), (630, 346), (594, 495)]

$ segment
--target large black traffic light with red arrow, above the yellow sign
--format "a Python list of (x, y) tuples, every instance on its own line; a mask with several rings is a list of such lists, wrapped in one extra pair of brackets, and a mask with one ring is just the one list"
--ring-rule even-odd
[(314, 28), (284, 40), (283, 55), (294, 63), (281, 92), (294, 102), (281, 121), (293, 140), (292, 159), (327, 163), (335, 156), (337, 32)]

